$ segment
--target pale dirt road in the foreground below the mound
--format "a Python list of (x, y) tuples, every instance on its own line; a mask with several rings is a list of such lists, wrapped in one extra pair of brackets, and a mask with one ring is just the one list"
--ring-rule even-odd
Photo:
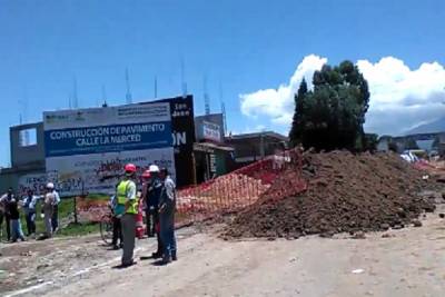
[[(39, 284), (3, 296), (442, 296), (445, 220), (437, 212), (443, 210), (439, 206), (424, 218), (421, 228), (390, 230), (386, 238), (378, 232), (366, 239), (230, 242), (214, 232), (182, 229), (179, 261), (167, 267), (139, 260), (112, 269), (119, 253), (107, 251), (95, 238), (78, 240), (83, 256), (59, 254), (62, 276), (52, 267)], [(68, 241), (63, 245), (70, 250), (73, 242)], [(139, 256), (151, 249), (152, 240), (139, 241)]]

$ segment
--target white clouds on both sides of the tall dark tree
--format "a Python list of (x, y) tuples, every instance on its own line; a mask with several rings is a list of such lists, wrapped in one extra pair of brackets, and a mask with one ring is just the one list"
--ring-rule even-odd
[[(310, 85), (314, 71), (326, 62), (326, 58), (307, 56), (288, 83), (240, 95), (241, 112), (253, 118), (266, 117), (273, 125), (288, 126), (299, 82), (305, 77)], [(357, 66), (369, 83), (367, 131), (397, 135), (445, 117), (445, 68), (438, 62), (425, 62), (412, 70), (404, 61), (385, 57), (376, 63), (358, 60)]]

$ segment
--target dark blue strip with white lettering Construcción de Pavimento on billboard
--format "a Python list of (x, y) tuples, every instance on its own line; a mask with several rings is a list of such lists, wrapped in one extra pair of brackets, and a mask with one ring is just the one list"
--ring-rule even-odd
[(44, 131), (47, 158), (166, 148), (171, 146), (170, 121)]

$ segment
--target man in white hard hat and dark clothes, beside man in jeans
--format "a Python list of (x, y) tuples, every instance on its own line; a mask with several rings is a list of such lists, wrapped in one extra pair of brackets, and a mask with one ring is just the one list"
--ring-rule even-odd
[(147, 208), (148, 208), (148, 217), (152, 217), (152, 222), (147, 224), (147, 227), (151, 225), (151, 232), (156, 234), (156, 239), (158, 241), (157, 250), (151, 254), (151, 257), (157, 259), (162, 257), (164, 247), (162, 240), (160, 237), (160, 228), (159, 228), (159, 197), (162, 190), (162, 182), (159, 178), (159, 167), (157, 165), (150, 165), (149, 167), (151, 184), (147, 189)]

